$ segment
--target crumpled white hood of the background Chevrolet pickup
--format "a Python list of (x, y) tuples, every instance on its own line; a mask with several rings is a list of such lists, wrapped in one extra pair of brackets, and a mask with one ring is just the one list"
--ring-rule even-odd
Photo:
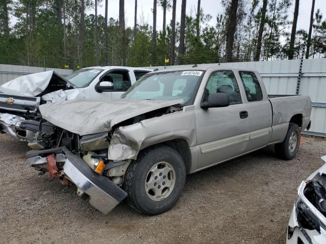
[(41, 94), (48, 86), (52, 76), (58, 76), (67, 82), (67, 79), (53, 70), (24, 75), (0, 86), (0, 92), (14, 96), (35, 97)]

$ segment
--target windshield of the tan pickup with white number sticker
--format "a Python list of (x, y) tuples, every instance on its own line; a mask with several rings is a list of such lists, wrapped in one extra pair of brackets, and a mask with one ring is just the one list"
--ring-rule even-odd
[(147, 100), (182, 99), (183, 105), (192, 104), (203, 71), (170, 71), (143, 76), (121, 98)]

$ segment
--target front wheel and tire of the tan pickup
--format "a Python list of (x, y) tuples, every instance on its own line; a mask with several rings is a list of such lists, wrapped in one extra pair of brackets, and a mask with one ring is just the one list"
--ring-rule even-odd
[(184, 162), (173, 148), (154, 146), (144, 149), (126, 171), (123, 183), (128, 194), (126, 201), (131, 208), (145, 215), (168, 211), (181, 196), (185, 175)]

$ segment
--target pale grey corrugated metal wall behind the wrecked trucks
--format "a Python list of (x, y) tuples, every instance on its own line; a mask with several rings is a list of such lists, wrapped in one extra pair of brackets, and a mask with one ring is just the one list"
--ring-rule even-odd
[[(198, 66), (213, 65), (219, 64)], [(167, 69), (192, 66), (167, 66)], [(295, 95), (296, 93), (300, 60), (222, 63), (220, 67), (242, 67), (258, 70), (265, 83), (268, 94)], [(143, 68), (164, 69), (164, 66)], [(46, 71), (48, 70), (55, 70), (61, 75), (69, 75), (72, 72), (72, 70), (46, 68)], [(18, 76), (43, 71), (45, 69), (40, 67), (0, 65), (0, 83), (3, 84)], [(313, 103), (310, 132), (317, 133), (318, 135), (324, 133), (324, 136), (326, 136), (326, 58), (303, 60), (299, 94), (309, 95)]]

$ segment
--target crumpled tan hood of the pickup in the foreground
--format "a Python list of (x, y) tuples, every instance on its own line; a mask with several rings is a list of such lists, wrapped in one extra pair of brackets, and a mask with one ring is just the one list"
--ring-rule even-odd
[(43, 104), (39, 109), (43, 118), (53, 125), (83, 136), (110, 131), (114, 125), (126, 119), (182, 102), (87, 99)]

